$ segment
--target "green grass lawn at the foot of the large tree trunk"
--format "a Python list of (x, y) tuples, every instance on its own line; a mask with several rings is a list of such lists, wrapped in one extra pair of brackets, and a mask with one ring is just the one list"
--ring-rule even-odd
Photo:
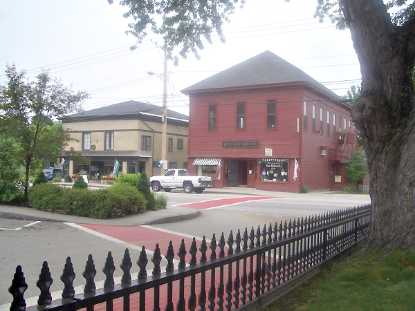
[[(362, 247), (362, 246), (360, 246)], [(415, 254), (355, 252), (284, 296), (292, 311), (415, 310)], [(266, 308), (286, 310), (281, 301)]]

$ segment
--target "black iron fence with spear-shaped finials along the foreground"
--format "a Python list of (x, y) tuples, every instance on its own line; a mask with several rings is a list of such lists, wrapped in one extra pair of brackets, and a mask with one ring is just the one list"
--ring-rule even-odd
[[(52, 301), (48, 263), (45, 261), (36, 285), (40, 290), (35, 310), (190, 310), (230, 311), (250, 305), (263, 296), (276, 292), (282, 285), (301, 277), (322, 265), (333, 256), (365, 238), (371, 221), (371, 206), (353, 207), (318, 216), (290, 220), (288, 223), (264, 225), (250, 232), (230, 232), (227, 241), (221, 234), (219, 241), (213, 235), (211, 241), (203, 237), (201, 245), (193, 238), (190, 245), (190, 261), (182, 241), (177, 256), (178, 267), (174, 269), (174, 249), (170, 242), (165, 254), (167, 265), (161, 272), (159, 245), (156, 245), (152, 275), (147, 276), (147, 254), (142, 247), (137, 265), (137, 279), (130, 274), (133, 263), (129, 250), (125, 250), (120, 268), (121, 283), (116, 285), (116, 270), (111, 252), (103, 272), (106, 274), (104, 288), (95, 288), (97, 273), (93, 258), (89, 255), (82, 276), (86, 279), (84, 294), (75, 295), (75, 273), (71, 258), (66, 259), (60, 277), (64, 283), (62, 299)], [(210, 255), (208, 260), (208, 249)], [(199, 257), (200, 256), (200, 257)], [(197, 263), (199, 257), (199, 263)], [(21, 266), (18, 266), (9, 288), (13, 301), (10, 310), (24, 310), (24, 292), (28, 285)]]

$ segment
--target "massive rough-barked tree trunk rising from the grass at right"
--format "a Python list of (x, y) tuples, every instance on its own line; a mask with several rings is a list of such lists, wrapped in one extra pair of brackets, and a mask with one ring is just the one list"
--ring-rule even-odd
[(414, 17), (391, 23), (382, 0), (344, 0), (362, 72), (353, 106), (371, 178), (371, 246), (415, 251)]

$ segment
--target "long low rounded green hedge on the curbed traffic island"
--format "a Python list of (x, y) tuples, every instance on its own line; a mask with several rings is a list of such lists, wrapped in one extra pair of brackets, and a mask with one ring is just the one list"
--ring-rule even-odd
[(90, 191), (42, 184), (29, 190), (29, 204), (50, 213), (91, 218), (116, 218), (145, 211), (146, 200), (130, 185)]

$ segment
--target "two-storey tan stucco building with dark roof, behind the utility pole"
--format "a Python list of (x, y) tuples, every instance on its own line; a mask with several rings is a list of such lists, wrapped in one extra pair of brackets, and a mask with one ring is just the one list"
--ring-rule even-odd
[[(113, 104), (91, 111), (68, 115), (62, 119), (64, 129), (75, 138), (71, 147), (90, 164), (69, 163), (68, 173), (86, 173), (100, 179), (113, 171), (115, 160), (124, 173), (159, 175), (163, 107), (136, 101)], [(187, 168), (189, 119), (187, 115), (167, 110), (167, 167)], [(64, 152), (65, 154), (65, 152)], [(65, 157), (65, 156), (64, 156)]]

